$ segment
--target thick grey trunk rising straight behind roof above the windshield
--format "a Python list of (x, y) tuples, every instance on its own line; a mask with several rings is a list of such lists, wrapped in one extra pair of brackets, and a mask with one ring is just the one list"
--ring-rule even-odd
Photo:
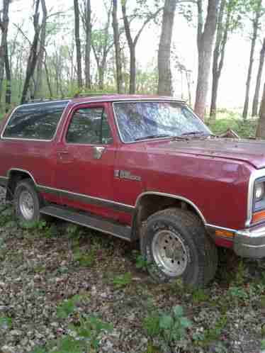
[(175, 11), (176, 0), (165, 0), (162, 32), (158, 49), (158, 94), (162, 96), (172, 96), (173, 94), (170, 49)]

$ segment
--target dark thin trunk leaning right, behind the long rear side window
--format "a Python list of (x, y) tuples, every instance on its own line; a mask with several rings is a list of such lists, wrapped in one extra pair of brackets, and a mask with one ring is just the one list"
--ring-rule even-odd
[(25, 79), (24, 86), (23, 86), (21, 104), (26, 102), (28, 89), (30, 87), (30, 79), (33, 78), (33, 75), (35, 72), (35, 67), (36, 67), (37, 60), (38, 60), (38, 40), (39, 40), (39, 35), (40, 35), (40, 25), (39, 25), (40, 13), (38, 11), (39, 5), (40, 5), (40, 0), (37, 0), (36, 4), (35, 4), (35, 13), (33, 16), (35, 34), (34, 34), (34, 38), (33, 38), (33, 43), (30, 47), (30, 54), (28, 56), (28, 64), (27, 64), (27, 69), (26, 69), (26, 79)]

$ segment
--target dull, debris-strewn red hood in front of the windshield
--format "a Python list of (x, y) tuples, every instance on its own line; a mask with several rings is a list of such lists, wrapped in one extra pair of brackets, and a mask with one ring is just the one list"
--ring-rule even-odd
[(164, 153), (178, 152), (235, 159), (252, 164), (256, 169), (265, 167), (265, 141), (232, 140), (224, 138), (188, 138), (187, 140), (176, 139), (167, 140), (167, 142), (159, 141), (159, 143), (155, 145)]

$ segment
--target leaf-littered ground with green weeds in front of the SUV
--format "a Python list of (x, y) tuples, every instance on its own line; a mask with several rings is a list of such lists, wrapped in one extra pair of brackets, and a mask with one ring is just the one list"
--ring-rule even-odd
[(191, 326), (167, 352), (260, 352), (265, 262), (222, 251), (204, 291), (157, 285), (137, 244), (59, 221), (22, 229), (4, 189), (0, 212), (1, 353), (165, 352), (156, 318), (176, 306)]

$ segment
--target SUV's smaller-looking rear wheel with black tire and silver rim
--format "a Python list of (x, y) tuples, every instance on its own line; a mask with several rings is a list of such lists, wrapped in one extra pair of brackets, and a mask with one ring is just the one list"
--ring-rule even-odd
[[(23, 206), (23, 199), (27, 195), (30, 203), (28, 203), (28, 206)], [(38, 194), (38, 191), (35, 189), (35, 184), (31, 179), (23, 179), (18, 181), (14, 193), (14, 203), (16, 206), (16, 217), (18, 220), (26, 223), (35, 223), (43, 219), (43, 216), (40, 215), (42, 200)], [(26, 211), (27, 208), (28, 213)]]

